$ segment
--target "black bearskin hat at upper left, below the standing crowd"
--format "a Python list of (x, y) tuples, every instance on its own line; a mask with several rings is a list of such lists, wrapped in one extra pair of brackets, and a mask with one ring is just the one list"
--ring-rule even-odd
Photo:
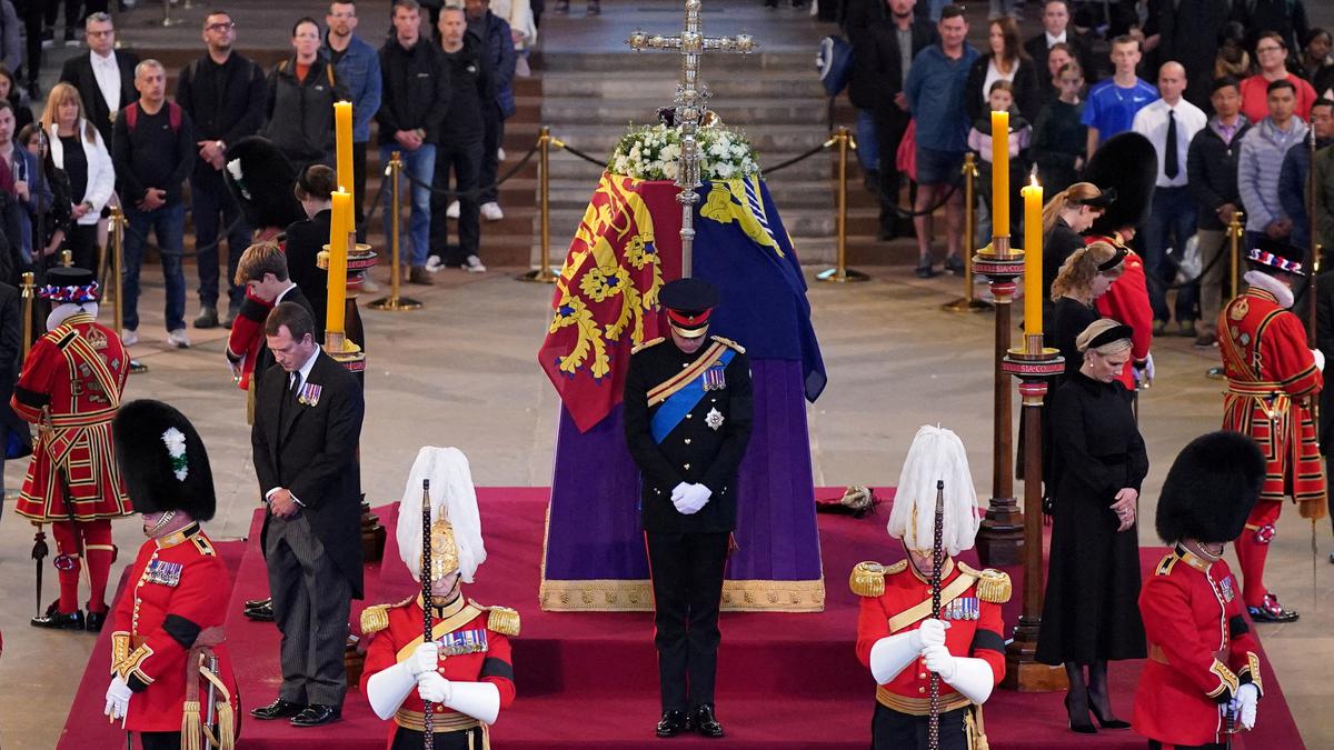
[(273, 141), (260, 136), (243, 137), (227, 147), (224, 159), (227, 187), (252, 228), (285, 230), (293, 222), (307, 219), (301, 202), (292, 192), (296, 168)]

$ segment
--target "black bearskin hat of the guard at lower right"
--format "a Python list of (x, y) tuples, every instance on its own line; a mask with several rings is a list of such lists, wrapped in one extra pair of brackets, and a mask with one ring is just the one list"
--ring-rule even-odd
[(1158, 496), (1158, 536), (1231, 542), (1259, 498), (1265, 458), (1255, 440), (1219, 430), (1201, 435), (1177, 455)]

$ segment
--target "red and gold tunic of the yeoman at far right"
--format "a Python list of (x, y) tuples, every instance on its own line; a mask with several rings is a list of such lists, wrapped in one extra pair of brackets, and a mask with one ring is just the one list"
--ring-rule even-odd
[(1218, 348), (1227, 374), (1223, 428), (1250, 435), (1265, 454), (1261, 499), (1291, 495), (1323, 507), (1325, 467), (1310, 410), (1323, 380), (1302, 322), (1253, 286), (1218, 315)]

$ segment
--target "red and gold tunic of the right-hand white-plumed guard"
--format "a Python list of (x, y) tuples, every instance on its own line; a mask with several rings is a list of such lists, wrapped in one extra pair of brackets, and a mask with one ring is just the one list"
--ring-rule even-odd
[[(883, 586), (879, 579), (883, 579)], [(916, 630), (923, 619), (931, 617), (931, 582), (907, 560), (887, 567), (858, 563), (852, 570), (851, 587), (862, 597), (856, 618), (856, 658), (866, 667), (871, 666), (871, 649), (879, 639)], [(995, 685), (1005, 677), (1000, 605), (1010, 601), (1010, 577), (1005, 573), (974, 570), (946, 558), (940, 574), (940, 619), (950, 623), (944, 631), (944, 646), (955, 657), (986, 661)], [(898, 729), (930, 714), (930, 689), (931, 673), (920, 657), (875, 689), (874, 747), (903, 747), (899, 739), (906, 734)], [(939, 706), (940, 747), (972, 747), (970, 738), (980, 734), (980, 726), (968, 710), (972, 702), (942, 679)], [(890, 714), (882, 717), (884, 711)], [(882, 722), (882, 718), (887, 721)], [(895, 738), (882, 737), (883, 729), (891, 726)], [(906, 729), (912, 733), (911, 726)]]

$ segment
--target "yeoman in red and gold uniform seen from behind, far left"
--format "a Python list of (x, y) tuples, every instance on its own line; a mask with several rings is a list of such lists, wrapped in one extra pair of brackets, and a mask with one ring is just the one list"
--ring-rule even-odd
[[(56, 267), (37, 294), (55, 307), (13, 390), (15, 414), (37, 426), (37, 444), (16, 510), (51, 524), (60, 599), (36, 627), (101, 630), (115, 559), (111, 519), (133, 512), (116, 468), (111, 420), (129, 375), (129, 355), (97, 318), (91, 271)], [(88, 618), (79, 607), (79, 569), (88, 566)]]

